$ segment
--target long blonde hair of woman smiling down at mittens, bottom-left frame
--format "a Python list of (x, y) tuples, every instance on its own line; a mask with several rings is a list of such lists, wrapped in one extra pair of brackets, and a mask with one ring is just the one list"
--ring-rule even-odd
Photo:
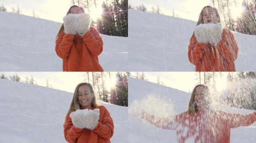
[(78, 88), (80, 86), (82, 86), (82, 85), (88, 85), (90, 90), (91, 90), (91, 93), (93, 94), (93, 98), (92, 98), (92, 102), (91, 102), (91, 107), (97, 107), (98, 106), (97, 98), (96, 98), (95, 92), (94, 92), (94, 88), (92, 87), (91, 83), (86, 83), (86, 82), (79, 83), (76, 86), (76, 89), (74, 91), (73, 99), (71, 101), (70, 108), (68, 109), (67, 114), (70, 114), (70, 112), (76, 111), (77, 109), (82, 109), (82, 107), (80, 106), (79, 101), (78, 101)]

